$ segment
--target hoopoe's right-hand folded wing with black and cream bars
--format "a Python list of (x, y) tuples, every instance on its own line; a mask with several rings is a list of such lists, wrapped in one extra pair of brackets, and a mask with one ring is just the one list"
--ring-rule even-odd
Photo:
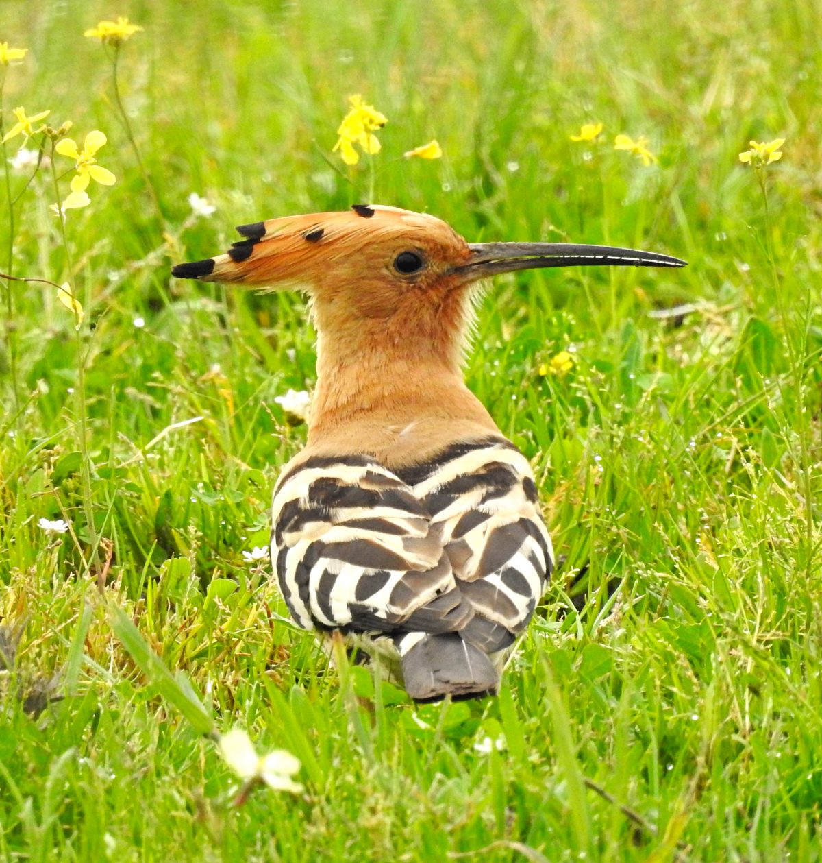
[(406, 478), (474, 608), (463, 638), (486, 653), (505, 650), (528, 625), (554, 567), (528, 460), (504, 439), (455, 444)]

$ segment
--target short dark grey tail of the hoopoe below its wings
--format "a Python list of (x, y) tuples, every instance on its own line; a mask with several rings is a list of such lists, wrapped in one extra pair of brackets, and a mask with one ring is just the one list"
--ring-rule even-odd
[(398, 647), (405, 691), (414, 701), (496, 695), (499, 673), (486, 654), (459, 633), (426, 633), (406, 651), (402, 640), (398, 639)]

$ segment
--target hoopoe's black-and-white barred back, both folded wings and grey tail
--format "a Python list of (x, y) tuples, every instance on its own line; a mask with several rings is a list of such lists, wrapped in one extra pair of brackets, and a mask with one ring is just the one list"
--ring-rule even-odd
[(272, 557), (295, 620), (398, 658), (417, 701), (496, 691), (553, 568), (527, 459), (499, 433), (392, 469), (316, 449), (273, 495)]

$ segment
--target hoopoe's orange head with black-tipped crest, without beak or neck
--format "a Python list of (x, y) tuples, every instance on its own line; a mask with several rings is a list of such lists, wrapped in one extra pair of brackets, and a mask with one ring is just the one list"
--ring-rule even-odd
[[(462, 287), (464, 279), (455, 268), (470, 259), (471, 250), (440, 219), (362, 205), (237, 230), (246, 239), (227, 254), (181, 264), (173, 274), (302, 290), (311, 296), (321, 337), (360, 341), (366, 333), (387, 328), (418, 342), (444, 329), (459, 349), (463, 304), (443, 308), (443, 299)], [(442, 318), (450, 306), (457, 319), (446, 322)]]

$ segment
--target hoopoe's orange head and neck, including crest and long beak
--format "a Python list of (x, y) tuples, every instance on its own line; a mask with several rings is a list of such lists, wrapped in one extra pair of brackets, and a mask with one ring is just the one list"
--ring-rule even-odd
[(436, 217), (377, 205), (237, 230), (244, 239), (225, 255), (179, 264), (172, 273), (309, 294), (318, 333), (310, 441), (341, 429), (350, 437), (358, 417), (371, 429), (381, 414), (399, 425), (424, 414), (493, 427), (460, 371), (469, 291), (480, 279), (580, 264), (684, 264), (602, 246), (469, 244)]

